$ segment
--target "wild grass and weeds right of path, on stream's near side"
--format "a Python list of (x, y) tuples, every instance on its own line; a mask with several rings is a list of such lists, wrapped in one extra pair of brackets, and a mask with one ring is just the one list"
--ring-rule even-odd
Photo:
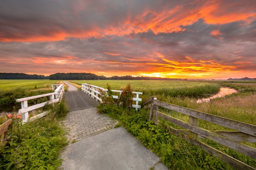
[[(195, 88), (197, 87), (195, 86)], [(256, 94), (251, 91), (239, 91), (238, 94), (218, 98), (209, 103), (197, 103), (196, 98), (181, 95), (168, 96), (159, 93), (157, 97), (160, 101), (256, 125)], [(234, 169), (232, 166), (204, 152), (202, 149), (169, 133), (167, 126), (181, 129), (177, 125), (167, 123), (166, 121), (161, 121), (160, 125), (155, 125), (153, 121), (148, 122), (148, 110), (139, 109), (139, 111), (136, 112), (135, 109), (123, 108), (111, 103), (101, 104), (98, 107), (98, 111), (107, 113), (112, 118), (118, 119), (144, 146), (158, 154), (162, 162), (171, 169)], [(186, 122), (188, 122), (189, 119), (188, 116), (174, 111), (162, 109), (161, 112)], [(218, 126), (206, 121), (199, 121), (199, 127), (208, 130), (229, 130), (223, 126)], [(200, 140), (256, 168), (255, 159), (210, 140)], [(247, 143), (247, 145), (256, 148), (255, 143)]]

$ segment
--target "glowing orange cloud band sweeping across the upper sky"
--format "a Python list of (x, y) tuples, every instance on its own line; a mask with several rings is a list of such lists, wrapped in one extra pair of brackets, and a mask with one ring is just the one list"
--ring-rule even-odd
[[(82, 7), (79, 6), (79, 4), (83, 4), (81, 5)], [(26, 25), (25, 22), (20, 23), (20, 25), (8, 23), (5, 27), (21, 30), (20, 32), (12, 32), (8, 35), (3, 34), (0, 36), (0, 41), (35, 42), (60, 41), (73, 37), (82, 39), (91, 37), (101, 38), (110, 35), (122, 36), (133, 33), (143, 33), (148, 30), (152, 30), (155, 34), (178, 33), (185, 31), (185, 26), (191, 25), (199, 19), (204, 19), (204, 22), (207, 24), (227, 24), (236, 21), (251, 22), (256, 18), (254, 6), (245, 4), (242, 1), (188, 1), (187, 4), (180, 3), (176, 6), (166, 3), (162, 5), (161, 10), (151, 7), (151, 5), (152, 4), (145, 4), (144, 8), (140, 9), (140, 11), (134, 11), (134, 14), (133, 11), (130, 11), (128, 8), (127, 11), (119, 13), (122, 17), (102, 24), (102, 20), (98, 18), (104, 18), (108, 15), (108, 17), (113, 18), (112, 12), (108, 11), (109, 9), (107, 7), (96, 7), (95, 11), (97, 15), (91, 13), (91, 16), (89, 16), (85, 12), (88, 10), (89, 6), (86, 6), (84, 3), (77, 3), (73, 6), (74, 11), (67, 11), (70, 16), (75, 18), (72, 22), (64, 24), (54, 24), (55, 22), (53, 22), (49, 25), (48, 23), (42, 23), (43, 27), (39, 26), (37, 28), (37, 26), (34, 25), (32, 27), (34, 29), (31, 29), (31, 23), (30, 25)], [(90, 8), (94, 7), (95, 6), (92, 6)], [(233, 8), (233, 10), (226, 10), (227, 8)], [(83, 23), (83, 20), (80, 18), (83, 16), (79, 16), (79, 14), (84, 12), (87, 18), (93, 18), (92, 22)], [(70, 28), (70, 25), (74, 25), (74, 27)], [(2, 30), (2, 32), (4, 31)], [(219, 35), (221, 34), (218, 30), (214, 30), (212, 35), (220, 39)]]

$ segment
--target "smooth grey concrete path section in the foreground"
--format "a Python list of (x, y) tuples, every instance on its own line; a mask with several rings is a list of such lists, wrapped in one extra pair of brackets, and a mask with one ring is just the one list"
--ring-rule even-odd
[(168, 169), (155, 153), (142, 146), (124, 128), (108, 130), (71, 144), (62, 159), (65, 170)]

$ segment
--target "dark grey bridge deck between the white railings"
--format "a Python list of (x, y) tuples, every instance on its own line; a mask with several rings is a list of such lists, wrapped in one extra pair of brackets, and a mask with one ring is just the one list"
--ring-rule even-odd
[(68, 103), (69, 111), (91, 108), (98, 105), (98, 102), (83, 91), (68, 91), (64, 93)]

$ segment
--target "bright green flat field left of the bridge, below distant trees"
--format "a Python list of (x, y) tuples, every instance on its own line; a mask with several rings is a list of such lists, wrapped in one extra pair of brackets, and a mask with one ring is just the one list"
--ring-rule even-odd
[(51, 84), (56, 82), (56, 80), (0, 80), (0, 90), (11, 90), (18, 87), (42, 89), (49, 88)]

